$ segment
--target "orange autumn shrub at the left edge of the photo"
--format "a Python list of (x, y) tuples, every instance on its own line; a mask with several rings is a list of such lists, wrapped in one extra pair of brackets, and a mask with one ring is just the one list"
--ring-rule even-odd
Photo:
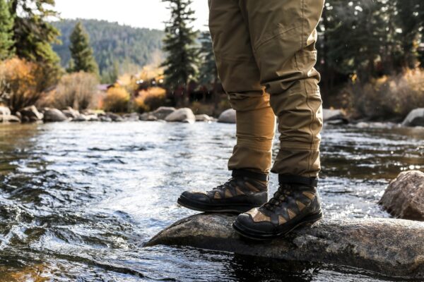
[(44, 79), (41, 73), (40, 66), (23, 59), (0, 62), (0, 100), (13, 114), (42, 97)]

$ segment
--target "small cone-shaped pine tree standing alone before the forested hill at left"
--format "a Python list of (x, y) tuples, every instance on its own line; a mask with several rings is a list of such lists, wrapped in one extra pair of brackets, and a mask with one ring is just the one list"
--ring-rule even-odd
[(93, 56), (93, 49), (90, 47), (90, 39), (81, 22), (76, 23), (70, 37), (71, 57), (73, 61), (73, 72), (84, 71), (86, 73), (98, 74), (98, 64)]

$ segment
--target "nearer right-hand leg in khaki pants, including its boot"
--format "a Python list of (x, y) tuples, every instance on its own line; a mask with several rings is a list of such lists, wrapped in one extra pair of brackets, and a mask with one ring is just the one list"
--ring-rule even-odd
[(317, 194), (322, 100), (316, 27), (324, 0), (240, 0), (249, 21), (261, 85), (271, 94), (281, 148), (272, 172), (280, 188), (261, 209), (242, 214), (235, 228), (252, 238), (283, 235), (322, 217)]

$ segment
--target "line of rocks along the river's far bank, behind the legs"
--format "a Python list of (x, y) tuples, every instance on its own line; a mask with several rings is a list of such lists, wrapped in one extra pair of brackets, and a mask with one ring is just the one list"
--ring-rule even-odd
[[(424, 127), (424, 109), (415, 109), (405, 118), (402, 123), (381, 123), (366, 121), (350, 121), (346, 113), (338, 109), (323, 110), (324, 123), (326, 125), (352, 125), (357, 128), (394, 128), (394, 127)], [(0, 106), (0, 122), (3, 123), (28, 123), (43, 121), (48, 122), (119, 122), (119, 121), (167, 121), (181, 123), (196, 122), (218, 122), (218, 123), (236, 123), (236, 114), (233, 109), (223, 111), (218, 118), (213, 118), (206, 114), (195, 115), (192, 109), (161, 106), (155, 111), (144, 114), (114, 114), (101, 110), (83, 110), (76, 111), (70, 107), (64, 110), (59, 109), (37, 109), (35, 106), (28, 106), (21, 109), (16, 115), (11, 115), (11, 111)]]

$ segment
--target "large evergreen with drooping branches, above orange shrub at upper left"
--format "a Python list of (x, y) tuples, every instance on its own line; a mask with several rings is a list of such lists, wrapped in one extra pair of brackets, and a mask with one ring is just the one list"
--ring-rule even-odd
[(59, 56), (52, 49), (52, 43), (59, 42), (59, 31), (49, 23), (57, 17), (53, 7), (54, 0), (10, 1), (16, 55), (41, 67), (44, 80), (39, 91), (54, 85), (62, 72)]

